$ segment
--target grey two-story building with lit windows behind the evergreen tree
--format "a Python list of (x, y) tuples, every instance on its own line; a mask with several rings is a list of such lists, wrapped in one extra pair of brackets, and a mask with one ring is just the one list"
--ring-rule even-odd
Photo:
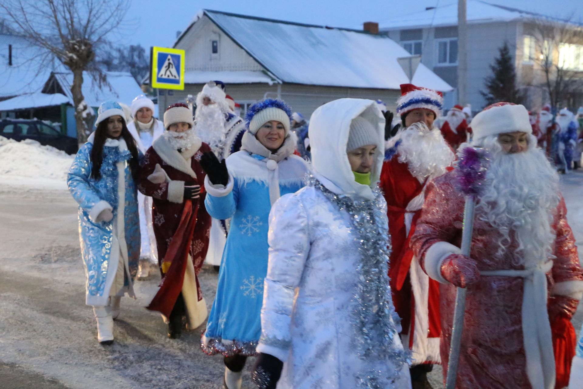
[[(549, 3), (550, 4), (550, 3)], [(510, 47), (518, 75), (518, 87), (526, 96), (526, 106), (538, 109), (549, 103), (544, 87), (540, 57), (549, 52), (554, 66), (568, 69), (575, 83), (583, 80), (583, 30), (580, 24), (526, 12), (482, 0), (467, 2), (467, 58), (468, 103), (474, 111), (485, 105), (480, 90), (485, 90), (484, 79), (492, 74), (490, 65), (498, 56), (504, 42)], [(561, 26), (562, 24), (562, 26)], [(560, 33), (547, 33), (554, 44), (544, 43), (537, 33), (567, 26), (570, 41), (561, 41)], [(422, 55), (422, 63), (449, 85), (458, 85), (458, 6), (456, 2), (427, 7), (419, 12), (395, 17), (382, 23), (381, 33), (387, 34), (410, 54)], [(564, 34), (563, 34), (564, 35)], [(580, 36), (580, 38), (578, 38)], [(540, 41), (540, 42), (539, 42)], [(583, 89), (575, 88), (564, 101), (571, 108), (583, 104)], [(455, 99), (456, 100), (456, 99)], [(449, 104), (456, 101), (448, 100)]]

